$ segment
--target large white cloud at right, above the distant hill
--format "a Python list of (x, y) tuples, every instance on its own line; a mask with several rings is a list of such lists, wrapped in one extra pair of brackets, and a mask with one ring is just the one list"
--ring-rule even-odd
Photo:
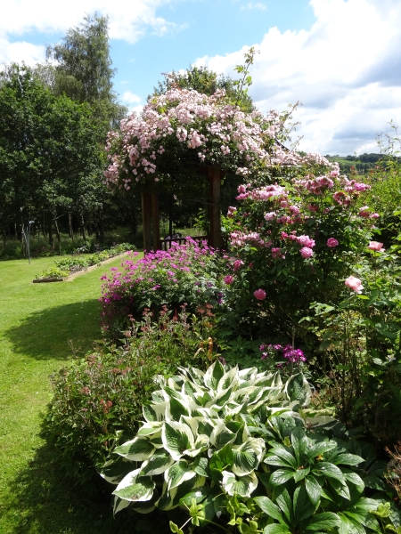
[[(302, 101), (300, 147), (323, 153), (377, 150), (375, 134), (401, 125), (399, 0), (311, 0), (310, 30), (270, 28), (255, 46), (250, 94), (264, 111)], [(197, 64), (232, 74), (240, 51)]]

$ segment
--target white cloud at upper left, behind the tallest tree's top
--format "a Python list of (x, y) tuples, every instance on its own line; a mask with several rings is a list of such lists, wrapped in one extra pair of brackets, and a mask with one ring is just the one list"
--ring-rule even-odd
[[(0, 63), (43, 61), (45, 46), (25, 41), (12, 42), (11, 36), (29, 32), (64, 33), (77, 26), (86, 13), (109, 16), (110, 37), (136, 43), (147, 32), (164, 35), (180, 29), (174, 22), (157, 15), (159, 7), (177, 0), (10, 0), (2, 5), (0, 17)], [(26, 54), (23, 55), (22, 52)]]

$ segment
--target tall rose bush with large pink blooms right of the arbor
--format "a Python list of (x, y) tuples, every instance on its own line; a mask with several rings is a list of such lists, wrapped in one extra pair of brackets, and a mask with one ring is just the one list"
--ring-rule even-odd
[(377, 217), (356, 205), (368, 189), (335, 165), (322, 176), (241, 185), (240, 206), (229, 212), (233, 280), (227, 303), (233, 312), (291, 339), (310, 303), (336, 301), (340, 280), (365, 253)]

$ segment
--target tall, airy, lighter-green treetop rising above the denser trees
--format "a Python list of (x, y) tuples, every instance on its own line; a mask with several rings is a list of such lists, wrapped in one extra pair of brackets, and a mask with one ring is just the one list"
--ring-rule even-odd
[(112, 78), (108, 18), (86, 15), (76, 28), (70, 28), (61, 44), (48, 46), (48, 60), (57, 61), (54, 93), (65, 93), (79, 102), (89, 102), (103, 123), (105, 133), (118, 125), (127, 109), (117, 101)]

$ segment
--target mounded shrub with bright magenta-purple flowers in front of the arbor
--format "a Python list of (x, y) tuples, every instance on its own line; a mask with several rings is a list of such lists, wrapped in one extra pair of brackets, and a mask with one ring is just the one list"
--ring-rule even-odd
[(159, 312), (163, 304), (179, 309), (186, 303), (193, 312), (206, 303), (215, 306), (222, 295), (224, 264), (206, 242), (199, 246), (190, 238), (184, 245), (174, 243), (168, 252), (124, 261), (121, 271), (111, 268), (110, 277), (103, 277), (103, 327), (114, 334), (127, 326), (128, 314), (138, 317), (146, 307)]

